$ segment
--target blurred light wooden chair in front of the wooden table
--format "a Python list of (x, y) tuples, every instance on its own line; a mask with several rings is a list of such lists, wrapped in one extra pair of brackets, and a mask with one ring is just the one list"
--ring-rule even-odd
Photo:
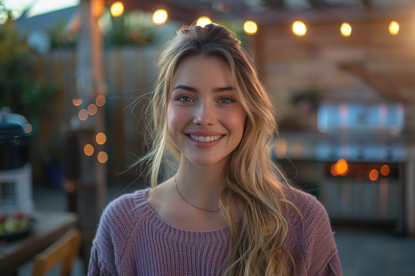
[(63, 262), (61, 276), (69, 276), (72, 263), (78, 256), (80, 245), (81, 232), (76, 228), (71, 228), (54, 244), (34, 256), (32, 276), (44, 276), (60, 262)]

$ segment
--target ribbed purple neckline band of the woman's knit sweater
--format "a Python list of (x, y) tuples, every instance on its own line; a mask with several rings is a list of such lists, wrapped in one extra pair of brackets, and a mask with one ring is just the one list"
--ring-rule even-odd
[[(146, 188), (138, 194), (137, 204), (142, 205), (142, 212), (144, 217), (149, 221), (152, 227), (164, 236), (174, 239), (189, 241), (193, 239), (206, 239), (206, 242), (210, 241), (226, 241), (229, 240), (230, 230), (227, 225), (212, 230), (191, 230), (174, 226), (163, 218), (161, 218), (156, 212), (151, 209), (146, 201), (147, 193), (151, 188)], [(237, 222), (237, 224), (240, 221)]]

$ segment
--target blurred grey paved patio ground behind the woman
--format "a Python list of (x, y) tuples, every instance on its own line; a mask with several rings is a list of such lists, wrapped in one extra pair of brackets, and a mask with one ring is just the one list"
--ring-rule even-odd
[[(123, 186), (110, 186), (108, 200), (121, 192)], [(137, 187), (135, 187), (137, 189)], [(132, 192), (134, 187), (126, 191)], [(65, 210), (66, 198), (60, 189), (34, 187), (37, 209)], [(413, 276), (415, 275), (415, 240), (398, 237), (387, 228), (333, 226), (344, 276)], [(20, 267), (20, 276), (32, 273), (33, 263)], [(71, 276), (85, 276), (85, 265), (78, 259)], [(48, 276), (58, 276), (59, 267)]]

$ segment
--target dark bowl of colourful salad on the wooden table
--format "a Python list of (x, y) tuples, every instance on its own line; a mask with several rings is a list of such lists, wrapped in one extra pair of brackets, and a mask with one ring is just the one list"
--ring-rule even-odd
[(0, 215), (0, 238), (12, 238), (29, 232), (35, 226), (36, 219), (29, 214), (17, 212)]

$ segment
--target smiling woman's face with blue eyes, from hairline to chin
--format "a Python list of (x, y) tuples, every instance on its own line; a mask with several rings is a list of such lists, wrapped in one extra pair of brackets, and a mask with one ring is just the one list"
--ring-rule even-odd
[(227, 160), (241, 142), (245, 117), (227, 62), (203, 56), (181, 62), (173, 76), (167, 119), (182, 160), (200, 166)]

